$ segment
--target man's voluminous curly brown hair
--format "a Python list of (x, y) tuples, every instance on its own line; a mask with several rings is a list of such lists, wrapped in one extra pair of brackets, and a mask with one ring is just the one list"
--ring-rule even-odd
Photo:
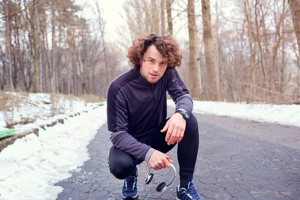
[(176, 66), (181, 65), (182, 50), (178, 42), (170, 35), (157, 36), (156, 34), (139, 34), (133, 40), (132, 46), (128, 49), (127, 57), (133, 64), (133, 68), (139, 68), (140, 62), (145, 61), (143, 54), (147, 47), (154, 45), (156, 49), (164, 56), (164, 62), (167, 63), (166, 71), (170, 72)]

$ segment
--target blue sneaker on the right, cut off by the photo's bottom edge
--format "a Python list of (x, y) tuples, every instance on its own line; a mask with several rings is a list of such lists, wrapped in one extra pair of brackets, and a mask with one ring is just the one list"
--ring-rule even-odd
[(188, 182), (187, 189), (185, 188), (179, 188), (180, 185), (177, 186), (177, 200), (204, 200), (200, 197), (200, 195), (197, 192), (196, 187), (193, 185), (192, 182)]

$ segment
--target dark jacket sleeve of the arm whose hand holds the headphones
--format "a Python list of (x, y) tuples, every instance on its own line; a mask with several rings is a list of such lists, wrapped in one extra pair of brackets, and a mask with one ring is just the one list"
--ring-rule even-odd
[(148, 162), (154, 151), (150, 146), (137, 141), (127, 132), (127, 108), (121, 90), (110, 85), (107, 93), (107, 126), (110, 140), (115, 147), (138, 159)]

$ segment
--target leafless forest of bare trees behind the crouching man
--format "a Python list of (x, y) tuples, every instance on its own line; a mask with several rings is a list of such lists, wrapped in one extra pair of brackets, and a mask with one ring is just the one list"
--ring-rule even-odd
[(300, 103), (300, 0), (123, 0), (114, 38), (101, 2), (0, 1), (1, 90), (105, 97), (153, 32), (180, 43), (194, 99)]

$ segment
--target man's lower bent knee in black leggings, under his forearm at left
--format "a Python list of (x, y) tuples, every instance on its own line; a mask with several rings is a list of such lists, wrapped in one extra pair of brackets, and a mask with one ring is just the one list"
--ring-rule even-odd
[[(117, 179), (125, 179), (131, 175), (135, 170), (135, 165), (132, 158), (127, 153), (117, 154), (115, 152), (120, 152), (115, 146), (110, 148), (108, 154), (108, 166), (109, 171)], [(122, 151), (123, 152), (123, 151)]]

